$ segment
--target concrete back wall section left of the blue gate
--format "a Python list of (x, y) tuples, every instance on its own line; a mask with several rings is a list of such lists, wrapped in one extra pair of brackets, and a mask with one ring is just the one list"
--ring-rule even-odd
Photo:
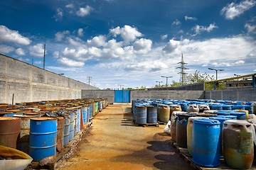
[(108, 98), (114, 103), (114, 90), (82, 90), (82, 98)]

